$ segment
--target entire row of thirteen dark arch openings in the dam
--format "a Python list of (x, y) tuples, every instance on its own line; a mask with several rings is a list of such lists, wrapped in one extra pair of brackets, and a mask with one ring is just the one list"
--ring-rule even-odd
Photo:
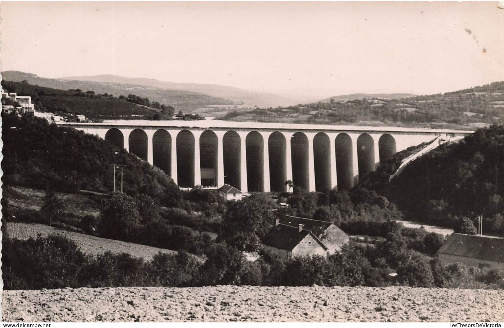
[[(389, 134), (380, 137), (378, 148), (375, 150), (373, 138), (368, 134), (361, 134), (357, 138), (356, 160), (358, 172), (354, 169), (354, 148), (352, 139), (346, 133), (336, 136), (334, 145), (326, 133), (314, 135), (312, 140), (312, 176), (310, 177), (310, 145), (308, 137), (302, 132), (292, 134), (287, 141), (281, 132), (273, 132), (267, 138), (267, 152), (265, 153), (265, 138), (257, 132), (246, 134), (242, 143), (240, 135), (230, 130), (222, 137), (222, 162), (223, 172), (218, 172), (219, 138), (211, 130), (205, 130), (199, 137), (199, 154), (196, 152), (195, 136), (190, 130), (181, 130), (176, 135), (176, 178), (181, 187), (192, 187), (195, 184), (217, 186), (218, 175), (224, 174), (224, 183), (236, 186), (247, 191), (284, 191), (285, 181), (292, 176), (294, 185), (309, 189), (310, 179), (314, 177), (314, 189), (325, 191), (332, 188), (332, 174), (336, 174), (339, 189), (349, 189), (354, 184), (356, 175), (365, 175), (374, 171), (375, 154), (379, 152), (379, 159), (383, 161), (396, 153), (396, 141)], [(105, 140), (119, 148), (124, 148), (124, 137), (117, 128), (111, 128), (105, 134)], [(152, 137), (152, 163), (172, 175), (172, 137), (167, 130), (159, 129)], [(147, 160), (148, 137), (144, 130), (134, 129), (128, 138), (129, 151), (138, 157)], [(245, 146), (246, 165), (241, 165), (242, 146)], [(331, 147), (334, 147), (336, 172), (331, 168)], [(201, 182), (195, 181), (195, 155), (199, 155)], [(267, 156), (268, 163), (265, 163)], [(290, 161), (288, 158), (290, 157)], [(290, 167), (288, 167), (290, 163)], [(265, 164), (269, 174), (265, 172)], [(246, 174), (241, 170), (246, 169)], [(291, 169), (291, 174), (288, 171)], [(269, 186), (265, 186), (268, 182)], [(266, 180), (266, 181), (265, 181)], [(313, 181), (311, 181), (313, 183)], [(269, 190), (267, 190), (269, 191)]]

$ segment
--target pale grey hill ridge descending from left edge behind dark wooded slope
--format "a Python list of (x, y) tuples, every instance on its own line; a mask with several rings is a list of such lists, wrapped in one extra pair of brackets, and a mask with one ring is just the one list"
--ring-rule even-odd
[(2, 72), (2, 79), (13, 82), (27, 81), (29, 84), (38, 85), (59, 90), (80, 89), (82, 91), (92, 90), (95, 93), (107, 93), (114, 96), (125, 96), (136, 94), (137, 96), (147, 97), (152, 101), (157, 101), (164, 105), (170, 105), (183, 112), (190, 112), (196, 108), (208, 105), (232, 105), (233, 100), (227, 100), (220, 97), (209, 96), (207, 94), (187, 91), (183, 89), (161, 89), (150, 85), (122, 84), (114, 82), (94, 82), (77, 81), (64, 79), (47, 79), (36, 76), (35, 74), (7, 71)]

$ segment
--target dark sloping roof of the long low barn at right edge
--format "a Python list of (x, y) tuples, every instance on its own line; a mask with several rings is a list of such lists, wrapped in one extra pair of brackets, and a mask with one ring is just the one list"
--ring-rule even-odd
[(504, 238), (452, 233), (437, 253), (504, 262)]

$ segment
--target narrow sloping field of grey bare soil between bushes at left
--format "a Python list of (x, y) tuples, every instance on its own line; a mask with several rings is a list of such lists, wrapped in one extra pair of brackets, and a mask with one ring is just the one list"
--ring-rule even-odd
[(26, 240), (30, 237), (36, 237), (37, 234), (48, 236), (53, 233), (62, 234), (69, 239), (73, 240), (81, 250), (90, 255), (97, 255), (110, 251), (112, 253), (129, 253), (133, 256), (142, 257), (145, 260), (151, 260), (152, 256), (158, 252), (163, 253), (176, 253), (174, 250), (157, 248), (152, 246), (135, 244), (132, 242), (125, 242), (120, 240), (106, 239), (86, 235), (78, 232), (61, 230), (54, 227), (49, 227), (44, 224), (38, 223), (6, 223), (7, 234), (11, 238)]

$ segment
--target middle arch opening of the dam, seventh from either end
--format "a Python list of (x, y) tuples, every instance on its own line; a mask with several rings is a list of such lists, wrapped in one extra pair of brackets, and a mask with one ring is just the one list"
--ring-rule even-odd
[(250, 132), (245, 138), (247, 156), (247, 186), (248, 191), (263, 191), (263, 136), (257, 131)]

